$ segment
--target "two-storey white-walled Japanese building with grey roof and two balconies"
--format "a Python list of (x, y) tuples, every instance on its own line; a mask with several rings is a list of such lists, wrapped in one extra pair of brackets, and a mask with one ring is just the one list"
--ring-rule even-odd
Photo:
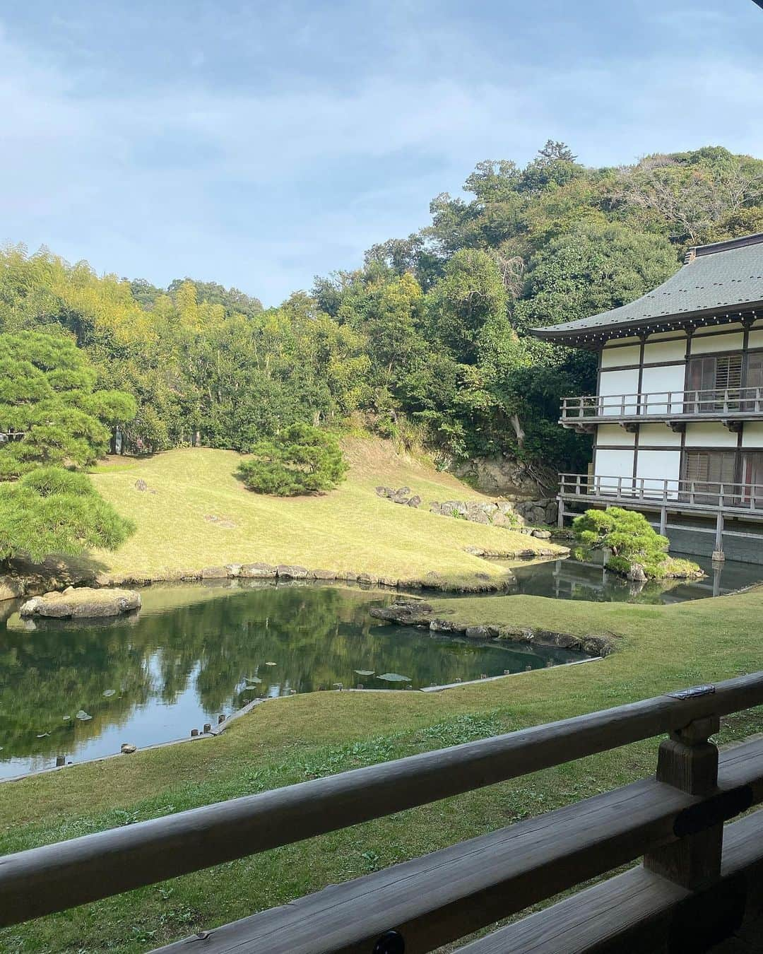
[(763, 234), (691, 249), (640, 299), (533, 334), (599, 355), (596, 395), (562, 404), (594, 449), (588, 474), (561, 475), (560, 523), (616, 503), (675, 549), (763, 562)]

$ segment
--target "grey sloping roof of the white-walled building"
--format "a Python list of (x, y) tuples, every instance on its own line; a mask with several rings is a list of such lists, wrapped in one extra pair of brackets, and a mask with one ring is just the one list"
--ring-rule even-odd
[(675, 275), (629, 304), (590, 318), (531, 330), (538, 338), (572, 340), (587, 331), (622, 333), (629, 326), (637, 328), (696, 312), (738, 312), (741, 305), (761, 301), (763, 233), (691, 249), (686, 264)]

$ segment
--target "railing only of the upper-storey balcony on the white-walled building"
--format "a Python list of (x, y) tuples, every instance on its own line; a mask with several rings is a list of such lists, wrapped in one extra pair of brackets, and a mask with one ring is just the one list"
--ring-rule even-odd
[(763, 388), (654, 391), (649, 394), (584, 395), (563, 398), (560, 421), (574, 425), (607, 418), (692, 419), (763, 416)]

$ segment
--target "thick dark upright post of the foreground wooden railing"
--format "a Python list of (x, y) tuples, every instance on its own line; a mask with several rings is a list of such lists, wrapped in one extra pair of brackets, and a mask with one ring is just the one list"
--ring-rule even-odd
[[(660, 744), (657, 781), (690, 795), (712, 795), (718, 782), (718, 750), (709, 741), (720, 727), (718, 716), (696, 719), (676, 729)], [(723, 822), (651, 851), (644, 866), (655, 874), (696, 890), (714, 881), (721, 870)]]

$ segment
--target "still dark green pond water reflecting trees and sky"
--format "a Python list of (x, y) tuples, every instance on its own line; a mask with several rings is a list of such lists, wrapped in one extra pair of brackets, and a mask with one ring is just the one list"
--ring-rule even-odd
[[(711, 596), (763, 575), (727, 563), (720, 576), (698, 583), (635, 592), (601, 567), (572, 560), (511, 571), (509, 592), (652, 603)], [(123, 742), (187, 737), (257, 696), (338, 682), (419, 689), (581, 658), (387, 626), (368, 614), (394, 598), (386, 591), (215, 584), (156, 586), (142, 597), (139, 614), (110, 623), (31, 623), (19, 618), (17, 604), (0, 604), (0, 778), (49, 768), (56, 757), (111, 755)]]

